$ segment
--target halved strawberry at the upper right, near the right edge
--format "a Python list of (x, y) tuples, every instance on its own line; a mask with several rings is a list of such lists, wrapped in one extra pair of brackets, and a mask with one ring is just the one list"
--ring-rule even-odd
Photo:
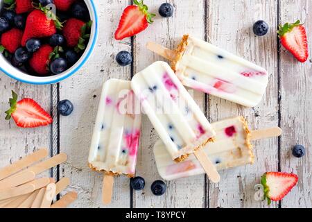
[(306, 28), (300, 21), (293, 24), (286, 23), (279, 26), (279, 38), (281, 44), (290, 51), (300, 62), (306, 62), (309, 58), (308, 41), (306, 37)]

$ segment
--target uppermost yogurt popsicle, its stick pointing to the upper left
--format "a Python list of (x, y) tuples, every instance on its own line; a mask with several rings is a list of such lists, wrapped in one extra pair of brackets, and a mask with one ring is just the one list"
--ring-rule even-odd
[(184, 35), (175, 51), (153, 42), (148, 49), (171, 60), (183, 85), (247, 107), (257, 105), (268, 85), (266, 69), (223, 49)]

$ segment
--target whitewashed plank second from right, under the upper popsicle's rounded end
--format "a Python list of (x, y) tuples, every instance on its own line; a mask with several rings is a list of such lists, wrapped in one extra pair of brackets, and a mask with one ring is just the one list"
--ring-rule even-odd
[[(266, 3), (264, 3), (266, 2)], [(277, 99), (277, 1), (208, 1), (207, 38), (229, 52), (265, 67), (270, 75), (266, 96), (257, 107), (243, 108), (223, 99), (209, 96), (211, 121), (243, 115), (250, 128), (278, 126)], [(263, 19), (270, 24), (270, 33), (256, 37), (252, 25)], [(277, 138), (254, 143), (255, 163), (220, 172), (221, 182), (209, 185), (209, 207), (266, 207), (254, 200), (255, 184), (266, 171), (278, 168)], [(272, 205), (277, 207), (277, 205)]]

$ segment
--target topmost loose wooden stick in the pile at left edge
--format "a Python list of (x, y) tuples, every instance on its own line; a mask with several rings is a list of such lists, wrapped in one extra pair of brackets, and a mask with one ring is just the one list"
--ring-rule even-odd
[(39, 151), (36, 151), (35, 153), (32, 153), (31, 155), (28, 155), (21, 160), (14, 162), (13, 164), (10, 164), (8, 167), (3, 167), (0, 169), (0, 180), (17, 173), (26, 167), (31, 166), (31, 164), (42, 160), (47, 155), (48, 151), (45, 148), (42, 148)]

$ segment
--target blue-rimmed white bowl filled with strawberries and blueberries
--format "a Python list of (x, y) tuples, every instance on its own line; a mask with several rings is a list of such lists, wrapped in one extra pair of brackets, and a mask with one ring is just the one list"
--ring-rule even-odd
[(0, 0), (0, 71), (31, 84), (58, 83), (92, 54), (92, 0)]

